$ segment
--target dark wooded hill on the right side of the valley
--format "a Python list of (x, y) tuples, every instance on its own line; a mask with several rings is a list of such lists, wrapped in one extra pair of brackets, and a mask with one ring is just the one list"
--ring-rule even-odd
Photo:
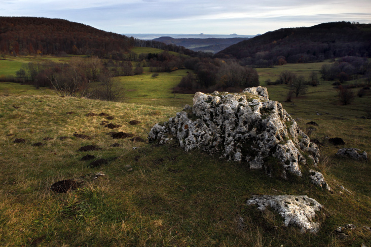
[[(371, 56), (371, 24), (322, 23), (312, 27), (282, 28), (232, 45), (216, 54), (264, 67), (321, 61), (343, 56)], [(283, 59), (283, 60), (282, 60)]]

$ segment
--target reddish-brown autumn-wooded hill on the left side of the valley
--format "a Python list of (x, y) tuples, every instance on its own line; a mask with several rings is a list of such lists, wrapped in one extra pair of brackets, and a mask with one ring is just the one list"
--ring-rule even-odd
[(38, 17), (0, 17), (0, 51), (13, 54), (128, 52), (133, 40), (81, 23)]

